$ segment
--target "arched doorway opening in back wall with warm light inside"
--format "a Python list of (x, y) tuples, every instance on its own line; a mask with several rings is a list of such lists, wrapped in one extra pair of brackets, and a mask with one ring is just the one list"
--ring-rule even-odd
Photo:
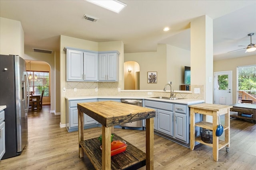
[(124, 63), (124, 90), (140, 90), (140, 65), (136, 61)]

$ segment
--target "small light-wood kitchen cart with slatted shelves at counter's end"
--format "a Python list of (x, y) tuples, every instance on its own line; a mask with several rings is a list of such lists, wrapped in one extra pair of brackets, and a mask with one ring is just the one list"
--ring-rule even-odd
[[(230, 146), (230, 108), (232, 106), (219, 105), (219, 104), (195, 104), (190, 105), (190, 150), (194, 150), (195, 141), (204, 145), (212, 147), (212, 154), (215, 161), (218, 161), (219, 150)], [(195, 122), (195, 113), (203, 115), (203, 121)], [(212, 123), (206, 122), (206, 115), (212, 116)], [(219, 140), (216, 136), (216, 129), (218, 126), (218, 115), (225, 115), (224, 133), (225, 140)], [(205, 129), (212, 130), (212, 143), (205, 143), (200, 137), (195, 137), (195, 126), (202, 127)]]

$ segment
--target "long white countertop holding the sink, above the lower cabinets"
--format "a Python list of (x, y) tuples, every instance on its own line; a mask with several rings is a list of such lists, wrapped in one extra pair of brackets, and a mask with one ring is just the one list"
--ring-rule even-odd
[[(150, 96), (154, 97), (154, 96)], [(178, 99), (178, 100), (169, 100), (169, 99), (157, 99), (150, 98), (149, 96), (73, 96), (65, 97), (67, 100), (83, 100), (83, 99), (146, 99), (146, 100), (155, 100), (160, 102), (171, 102), (179, 104), (198, 104), (203, 103), (204, 100), (198, 99)]]

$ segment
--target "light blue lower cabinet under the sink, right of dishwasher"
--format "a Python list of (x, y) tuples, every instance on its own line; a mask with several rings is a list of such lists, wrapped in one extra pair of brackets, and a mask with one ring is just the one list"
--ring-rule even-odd
[(189, 148), (189, 108), (186, 104), (145, 100), (156, 110), (154, 133)]

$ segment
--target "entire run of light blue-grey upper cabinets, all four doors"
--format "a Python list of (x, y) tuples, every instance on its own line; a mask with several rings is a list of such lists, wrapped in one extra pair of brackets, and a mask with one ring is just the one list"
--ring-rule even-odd
[(66, 81), (118, 81), (118, 51), (65, 47)]

